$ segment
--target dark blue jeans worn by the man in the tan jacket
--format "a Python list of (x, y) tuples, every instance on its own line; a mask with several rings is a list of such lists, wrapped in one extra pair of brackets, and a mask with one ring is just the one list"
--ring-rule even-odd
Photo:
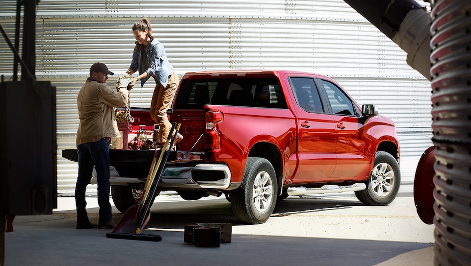
[(100, 222), (111, 221), (111, 204), (109, 203), (109, 147), (106, 138), (97, 142), (80, 144), (78, 149), (78, 178), (75, 187), (75, 204), (77, 223), (88, 221), (85, 190), (92, 179), (93, 166), (97, 172), (98, 206)]

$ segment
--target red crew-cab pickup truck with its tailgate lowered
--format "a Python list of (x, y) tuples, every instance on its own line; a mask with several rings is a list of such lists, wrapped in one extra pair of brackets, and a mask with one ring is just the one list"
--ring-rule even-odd
[[(171, 109), (170, 121), (181, 123), (184, 139), (172, 151), (159, 190), (186, 200), (224, 193), (241, 222), (266, 221), (288, 195), (354, 191), (364, 204), (385, 205), (399, 190), (393, 121), (373, 105), (359, 106), (327, 76), (186, 73)], [(110, 153), (116, 170), (111, 193), (120, 211), (136, 204), (152, 155)]]

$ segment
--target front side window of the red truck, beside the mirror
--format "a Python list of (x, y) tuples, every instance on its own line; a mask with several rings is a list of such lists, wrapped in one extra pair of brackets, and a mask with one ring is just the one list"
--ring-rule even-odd
[(358, 112), (356, 112), (353, 102), (339, 87), (326, 80), (321, 80), (321, 83), (327, 93), (332, 113), (347, 116), (357, 115)]

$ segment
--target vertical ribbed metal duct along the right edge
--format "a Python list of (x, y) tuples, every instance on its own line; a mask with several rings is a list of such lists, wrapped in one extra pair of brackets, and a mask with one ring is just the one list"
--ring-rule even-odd
[(471, 265), (471, 2), (432, 3), (435, 265)]

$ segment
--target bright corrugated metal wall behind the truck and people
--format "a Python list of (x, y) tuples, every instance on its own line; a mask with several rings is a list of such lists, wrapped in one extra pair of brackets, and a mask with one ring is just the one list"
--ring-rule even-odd
[[(425, 4), (424, 4), (425, 5)], [(0, 2), (14, 39), (16, 0)], [(430, 82), (406, 54), (342, 0), (41, 0), (37, 6), (36, 76), (57, 88), (58, 191), (74, 189), (76, 97), (94, 62), (124, 73), (131, 62), (132, 24), (148, 17), (182, 76), (212, 69), (291, 69), (326, 74), (362, 103), (392, 118), (401, 139), (403, 181), (413, 180), (432, 143)], [(21, 47), (21, 46), (20, 46)], [(0, 42), (0, 74), (11, 79), (13, 55)], [(131, 105), (148, 107), (155, 84), (134, 89)]]

